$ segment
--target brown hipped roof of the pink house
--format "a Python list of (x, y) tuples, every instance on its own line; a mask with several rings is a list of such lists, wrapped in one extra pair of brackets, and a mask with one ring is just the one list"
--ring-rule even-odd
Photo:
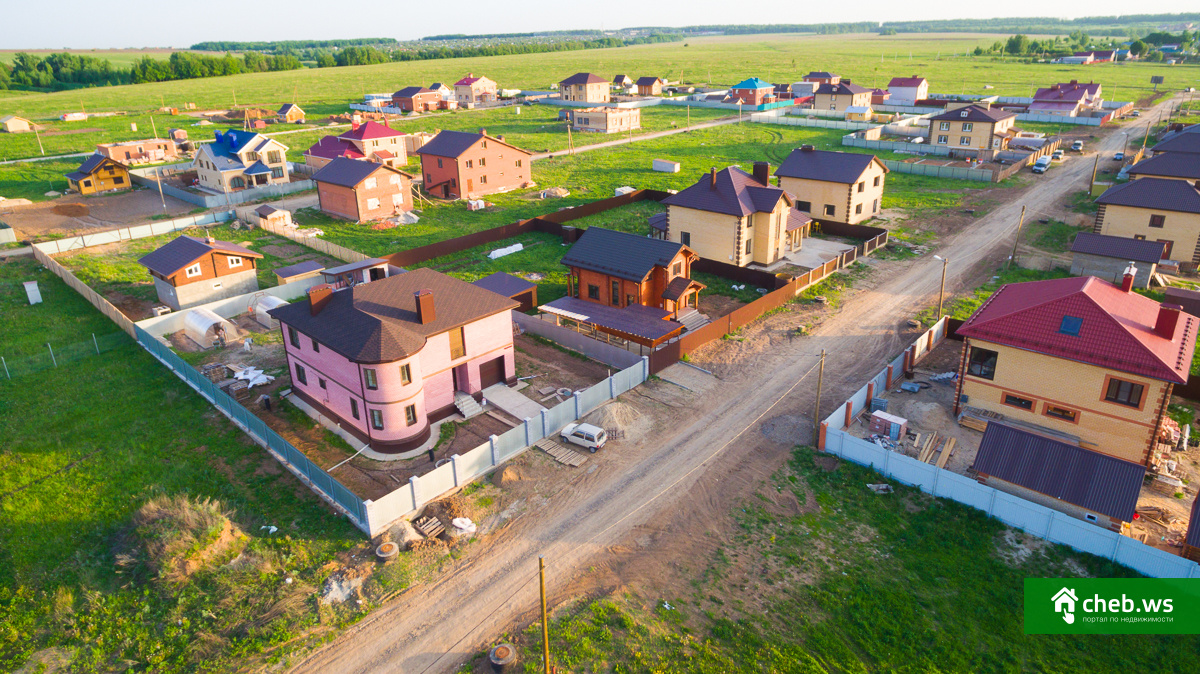
[[(426, 324), (416, 319), (419, 290), (433, 293), (434, 319)], [(433, 335), (517, 306), (466, 281), (431, 269), (414, 269), (336, 290), (317, 315), (312, 315), (306, 301), (269, 313), (354, 362), (380, 363), (416, 354)]]

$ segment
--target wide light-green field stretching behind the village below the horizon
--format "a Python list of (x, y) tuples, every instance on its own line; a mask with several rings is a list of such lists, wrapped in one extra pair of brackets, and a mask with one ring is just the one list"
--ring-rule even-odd
[[(989, 47), (998, 35), (869, 34), (796, 36), (754, 35), (689, 38), (685, 43), (643, 44), (619, 49), (559, 52), (412, 61), (343, 68), (306, 68), (226, 78), (100, 88), (59, 94), (14, 96), (5, 113), (44, 119), (82, 103), (90, 110), (148, 110), (162, 104), (194, 102), (223, 108), (242, 104), (347, 103), (365, 92), (395, 91), (410, 84), (455, 80), (468, 72), (484, 73), (503, 88), (546, 89), (552, 82), (592, 71), (605, 77), (618, 72), (662, 73), (672, 80), (733, 84), (757, 76), (770, 82), (798, 79), (810, 70), (836, 71), (866, 86), (884, 86), (893, 76), (920, 73), (932, 90), (944, 94), (1028, 96), (1043, 83), (1098, 79), (1110, 100), (1138, 100), (1151, 92), (1150, 76), (1163, 74), (1166, 86), (1194, 84), (1200, 67), (1166, 67), (1135, 62), (1104, 66), (1028, 64), (991, 56), (965, 56), (977, 46)], [(994, 89), (984, 89), (991, 85)]]

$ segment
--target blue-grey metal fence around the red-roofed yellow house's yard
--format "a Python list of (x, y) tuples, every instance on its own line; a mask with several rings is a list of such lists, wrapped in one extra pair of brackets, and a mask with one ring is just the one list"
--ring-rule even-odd
[(868, 389), (884, 391), (911, 365), (947, 337), (947, 319), (940, 320), (904, 354), (881, 371), (821, 422), (821, 449), (926, 494), (958, 501), (982, 510), (1015, 529), (1062, 543), (1076, 550), (1103, 556), (1153, 578), (1200, 578), (1200, 565), (1178, 555), (1152, 548), (1116, 531), (1102, 529), (1056, 510), (980, 485), (936, 465), (919, 462), (846, 432), (845, 420), (853, 419), (868, 405)]

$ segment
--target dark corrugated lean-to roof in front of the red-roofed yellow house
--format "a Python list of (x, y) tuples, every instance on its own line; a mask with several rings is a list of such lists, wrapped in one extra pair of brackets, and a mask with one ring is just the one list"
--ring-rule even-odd
[(976, 453), (974, 470), (1121, 522), (1132, 522), (1146, 467), (1000, 422)]

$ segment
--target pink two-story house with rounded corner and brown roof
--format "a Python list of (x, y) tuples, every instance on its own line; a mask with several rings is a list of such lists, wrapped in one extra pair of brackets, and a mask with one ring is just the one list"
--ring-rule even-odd
[(516, 383), (517, 302), (416, 269), (271, 309), (292, 390), (372, 449), (397, 453), (430, 438), (455, 401)]

